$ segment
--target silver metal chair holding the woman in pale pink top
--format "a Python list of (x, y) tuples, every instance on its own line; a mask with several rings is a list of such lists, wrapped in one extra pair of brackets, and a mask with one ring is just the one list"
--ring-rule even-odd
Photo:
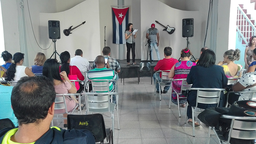
[[(67, 110), (67, 105), (66, 105), (66, 99), (65, 98), (68, 98), (68, 99), (71, 99), (70, 96), (78, 96), (78, 102), (79, 103), (76, 103), (75, 107), (71, 110), (71, 111), (68, 111)], [(79, 111), (79, 114), (82, 114), (81, 112), (81, 96), (79, 93), (74, 93), (74, 94), (56, 94), (56, 98), (55, 98), (55, 107), (54, 107), (54, 110), (65, 110), (65, 113), (67, 114), (73, 114), (73, 112), (76, 110), (76, 108), (79, 108), (78, 111)], [(65, 114), (65, 113), (56, 113), (56, 114)], [(54, 117), (53, 119), (67, 119), (67, 118), (59, 118), (59, 117)], [(53, 126), (53, 119), (52, 119), (52, 126)]]

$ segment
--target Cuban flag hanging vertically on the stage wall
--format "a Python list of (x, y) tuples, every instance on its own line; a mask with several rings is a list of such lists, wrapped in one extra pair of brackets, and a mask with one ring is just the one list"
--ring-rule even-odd
[(128, 25), (129, 7), (115, 9), (112, 7), (113, 43), (126, 44), (124, 32)]

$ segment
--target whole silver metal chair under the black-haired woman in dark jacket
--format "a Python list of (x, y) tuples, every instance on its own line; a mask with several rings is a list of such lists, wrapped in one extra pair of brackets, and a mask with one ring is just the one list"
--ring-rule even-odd
[[(195, 112), (201, 112), (201, 111), (194, 111), (194, 108), (197, 108), (198, 103), (203, 104), (217, 104), (217, 107), (219, 106), (220, 102), (220, 94), (221, 91), (225, 91), (225, 89), (215, 89), (215, 88), (189, 88), (189, 90), (196, 90), (197, 96), (196, 96), (196, 106), (192, 106), (192, 125), (193, 125), (193, 137), (195, 137)], [(185, 123), (187, 122), (187, 110), (188, 110), (188, 104), (186, 105), (186, 114), (185, 114)]]

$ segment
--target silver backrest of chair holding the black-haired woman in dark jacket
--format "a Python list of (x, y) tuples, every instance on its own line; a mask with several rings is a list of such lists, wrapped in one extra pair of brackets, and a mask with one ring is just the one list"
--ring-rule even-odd
[(197, 90), (196, 107), (198, 103), (217, 104), (218, 106), (221, 91), (225, 91), (225, 89), (215, 88), (189, 88), (188, 90)]

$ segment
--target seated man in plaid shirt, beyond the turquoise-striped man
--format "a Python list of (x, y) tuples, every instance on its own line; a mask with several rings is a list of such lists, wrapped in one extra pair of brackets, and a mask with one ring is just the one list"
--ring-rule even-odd
[[(120, 65), (119, 65), (119, 63), (118, 63), (118, 61), (116, 59), (110, 57), (110, 51), (111, 51), (110, 47), (104, 47), (103, 50), (102, 50), (103, 57), (107, 57), (108, 58), (109, 67), (113, 71), (119, 73), (121, 71), (121, 67), (120, 67)], [(95, 68), (96, 68), (96, 63), (94, 61), (93, 64), (92, 64), (92, 69), (95, 69)], [(117, 76), (117, 79), (118, 79), (118, 74), (117, 73), (116, 73), (116, 76)]]

